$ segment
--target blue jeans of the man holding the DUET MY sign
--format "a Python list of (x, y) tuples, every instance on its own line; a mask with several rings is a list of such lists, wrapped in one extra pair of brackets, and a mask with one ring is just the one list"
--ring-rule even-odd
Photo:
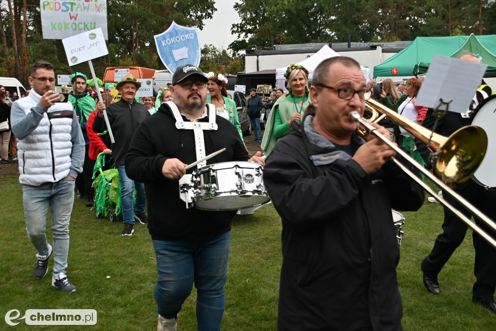
[[(127, 177), (124, 164), (117, 167), (117, 170), (119, 171), (119, 180), (121, 181), (121, 206), (124, 224), (134, 224), (134, 213), (139, 215), (145, 212), (145, 185), (143, 183), (134, 182)], [(134, 205), (134, 199), (132, 197), (134, 188), (136, 188), (136, 205)]]

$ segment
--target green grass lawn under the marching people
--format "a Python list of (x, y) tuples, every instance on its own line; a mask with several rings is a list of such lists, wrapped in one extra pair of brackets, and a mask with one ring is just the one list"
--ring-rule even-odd
[[(74, 202), (67, 274), (78, 290), (65, 294), (51, 286), (49, 273), (33, 276), (35, 252), (22, 211), (16, 165), (0, 166), (0, 330), (156, 330), (153, 288), (156, 267), (145, 225), (136, 224), (122, 237), (122, 223), (98, 219), (83, 202)], [(420, 263), (440, 232), (442, 207), (426, 202), (417, 212), (404, 212), (405, 231), (398, 265), (405, 330), (496, 330), (496, 316), (471, 302), (474, 249), (471, 235), (439, 274), (441, 294), (422, 284)], [(272, 205), (252, 215), (236, 216), (226, 290), (223, 330), (276, 330), (281, 222)], [(51, 242), (51, 231), (48, 231)], [(110, 276), (110, 277), (109, 277)], [(179, 330), (195, 330), (195, 293), (180, 313)], [(95, 309), (95, 326), (27, 326), (5, 324), (12, 309)], [(14, 321), (18, 322), (18, 321)]]

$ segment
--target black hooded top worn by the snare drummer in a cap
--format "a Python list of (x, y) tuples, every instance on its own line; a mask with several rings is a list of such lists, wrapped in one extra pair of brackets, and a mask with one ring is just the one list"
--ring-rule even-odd
[[(183, 120), (188, 122), (184, 116)], [(208, 118), (200, 122), (208, 122)], [(220, 116), (216, 117), (216, 123), (216, 131), (203, 132), (205, 154), (223, 147), (226, 150), (208, 159), (207, 165), (248, 161), (248, 152), (236, 127)], [(179, 180), (169, 180), (162, 175), (162, 166), (168, 158), (178, 158), (190, 164), (196, 161), (196, 152), (193, 131), (176, 129), (172, 111), (163, 103), (157, 113), (138, 128), (125, 159), (129, 178), (145, 183), (148, 230), (152, 239), (197, 239), (229, 231), (236, 211), (186, 209), (185, 202), (179, 197)], [(188, 169), (187, 173), (195, 169)]]

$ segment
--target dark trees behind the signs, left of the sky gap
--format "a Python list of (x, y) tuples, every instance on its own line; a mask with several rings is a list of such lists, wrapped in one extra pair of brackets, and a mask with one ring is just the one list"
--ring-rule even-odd
[[(39, 4), (39, 0), (0, 0), (2, 74), (27, 84), (26, 73), (38, 60), (53, 63), (59, 73), (89, 72), (86, 64), (68, 66), (61, 40), (43, 39)], [(214, 0), (107, 0), (107, 8), (109, 56), (92, 61), (97, 75), (107, 66), (165, 68), (153, 36), (173, 20), (202, 29), (203, 21), (216, 10)]]

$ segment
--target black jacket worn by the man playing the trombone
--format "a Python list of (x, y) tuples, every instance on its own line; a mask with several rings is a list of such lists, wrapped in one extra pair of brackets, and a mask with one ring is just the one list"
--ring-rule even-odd
[[(278, 328), (401, 330), (391, 207), (416, 210), (424, 193), (391, 163), (367, 175), (327, 139), (309, 140), (307, 119), (263, 172), (283, 226)], [(353, 153), (362, 143), (355, 135)]]

